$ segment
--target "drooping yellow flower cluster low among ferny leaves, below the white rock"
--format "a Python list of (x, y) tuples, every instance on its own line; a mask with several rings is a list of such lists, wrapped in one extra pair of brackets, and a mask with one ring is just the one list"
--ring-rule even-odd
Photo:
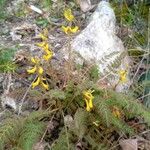
[(91, 109), (93, 108), (93, 99), (94, 99), (94, 96), (92, 95), (93, 92), (94, 91), (91, 90), (83, 91), (87, 111), (91, 111)]

